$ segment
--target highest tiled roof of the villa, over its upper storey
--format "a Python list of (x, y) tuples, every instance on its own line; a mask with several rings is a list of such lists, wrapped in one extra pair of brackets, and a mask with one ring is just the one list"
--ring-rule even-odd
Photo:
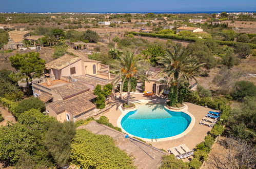
[(80, 57), (77, 56), (72, 56), (72, 55), (68, 55), (65, 54), (62, 57), (59, 57), (51, 62), (49, 62), (48, 64), (45, 65), (46, 68), (48, 69), (57, 69), (57, 70), (61, 70), (67, 66), (69, 66), (69, 64), (73, 64), (74, 62), (81, 60)]

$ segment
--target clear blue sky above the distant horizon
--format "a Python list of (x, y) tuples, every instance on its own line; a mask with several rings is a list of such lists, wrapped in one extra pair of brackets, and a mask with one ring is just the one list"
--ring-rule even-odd
[(255, 11), (256, 0), (0, 0), (0, 12)]

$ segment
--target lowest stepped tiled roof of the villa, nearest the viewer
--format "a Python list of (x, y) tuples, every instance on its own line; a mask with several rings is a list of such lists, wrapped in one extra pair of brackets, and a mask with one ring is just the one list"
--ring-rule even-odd
[(54, 101), (49, 105), (57, 114), (63, 111), (71, 113), (73, 116), (80, 115), (88, 110), (96, 108), (96, 105), (88, 101), (96, 96), (91, 92), (85, 92), (81, 95), (69, 98), (67, 100)]

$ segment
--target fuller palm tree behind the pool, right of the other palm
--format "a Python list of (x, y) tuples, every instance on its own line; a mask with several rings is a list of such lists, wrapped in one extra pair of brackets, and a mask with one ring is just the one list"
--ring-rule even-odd
[[(163, 80), (161, 82), (168, 86), (170, 93), (176, 97), (174, 99), (179, 100), (179, 87), (189, 82), (189, 79), (195, 79), (204, 64), (199, 64), (198, 58), (181, 44), (175, 45), (173, 49), (168, 50), (166, 55), (159, 57), (159, 59), (159, 63), (162, 65)], [(177, 102), (172, 103), (176, 104)]]

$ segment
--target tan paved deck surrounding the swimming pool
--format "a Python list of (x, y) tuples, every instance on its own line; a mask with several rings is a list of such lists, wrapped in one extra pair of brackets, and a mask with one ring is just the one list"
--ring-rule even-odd
[[(124, 98), (126, 95), (124, 95)], [(160, 102), (160, 99), (163, 99), (161, 97), (152, 96), (152, 97), (146, 97), (143, 94), (137, 94), (137, 93), (131, 93), (131, 102), (139, 103), (139, 100), (150, 100), (149, 102), (157, 103)], [(186, 144), (190, 150), (195, 148), (195, 145), (204, 141), (205, 136), (207, 136), (207, 133), (211, 130), (209, 126), (201, 125), (199, 122), (205, 117), (207, 112), (214, 111), (213, 109), (205, 108), (200, 105), (195, 105), (192, 103), (185, 102), (185, 104), (188, 106), (188, 112), (191, 113), (195, 118), (195, 123), (192, 127), (192, 129), (184, 136), (172, 139), (168, 141), (147, 141), (147, 143), (152, 144), (152, 146), (155, 146), (157, 149), (164, 149), (168, 150), (171, 147), (178, 146), (181, 144)], [(114, 105), (109, 112), (104, 114), (104, 116), (108, 117), (109, 121), (114, 125), (117, 125), (117, 120), (122, 115), (122, 112), (119, 110), (120, 104)]]

